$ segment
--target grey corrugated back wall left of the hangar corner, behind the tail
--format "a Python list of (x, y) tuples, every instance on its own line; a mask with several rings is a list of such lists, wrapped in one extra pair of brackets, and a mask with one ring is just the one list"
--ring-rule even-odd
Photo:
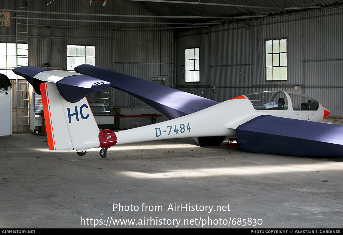
[[(26, 0), (18, 0), (24, 5)], [(151, 15), (145, 9), (128, 1), (59, 0), (28, 1), (28, 11), (68, 12), (86, 14)], [(45, 6), (46, 5), (46, 6)], [(15, 1), (2, 1), (1, 9), (15, 10)], [(28, 65), (51, 66), (67, 69), (67, 45), (95, 46), (95, 65), (152, 81), (158, 76), (173, 76), (174, 33), (170, 30), (119, 30), (118, 28), (161, 27), (158, 18), (146, 18), (151, 24), (113, 23), (114, 21), (139, 21), (137, 18), (111, 16), (82, 16), (68, 14), (27, 13), (30, 18), (56, 20), (28, 20)], [(11, 27), (0, 28), (0, 42), (15, 42), (15, 12), (11, 12)], [(90, 20), (91, 18), (91, 20)], [(84, 22), (82, 22), (84, 21)], [(103, 22), (95, 22), (103, 21)], [(112, 23), (106, 22), (111, 21)], [(145, 103), (124, 92), (110, 91), (111, 106), (146, 106)]]

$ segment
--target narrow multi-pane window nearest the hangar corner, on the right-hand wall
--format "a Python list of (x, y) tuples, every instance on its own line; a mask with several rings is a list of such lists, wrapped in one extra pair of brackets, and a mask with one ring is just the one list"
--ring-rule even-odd
[(199, 48), (186, 49), (185, 81), (200, 82)]

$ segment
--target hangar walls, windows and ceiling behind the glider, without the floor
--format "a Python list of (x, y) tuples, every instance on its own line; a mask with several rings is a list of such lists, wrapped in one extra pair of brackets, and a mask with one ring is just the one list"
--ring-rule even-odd
[[(11, 12), (11, 27), (0, 28), (7, 48), (0, 69), (13, 84), (10, 69), (16, 66), (70, 70), (86, 62), (218, 102), (264, 90), (300, 92), (325, 104), (330, 116), (343, 116), (340, 1), (62, 2), (1, 3), (1, 11)], [(283, 49), (268, 52), (275, 43)], [(78, 54), (68, 52), (75, 46)], [(187, 60), (187, 51), (195, 50), (197, 59)], [(22, 86), (17, 89), (27, 90)], [(25, 132), (27, 118), (16, 125), (15, 117), (27, 116), (20, 108), (27, 107), (25, 100), (17, 102), (26, 93), (13, 87), (12, 129)], [(157, 112), (123, 91), (108, 92), (113, 113)], [(146, 124), (122, 120), (121, 128)]]

